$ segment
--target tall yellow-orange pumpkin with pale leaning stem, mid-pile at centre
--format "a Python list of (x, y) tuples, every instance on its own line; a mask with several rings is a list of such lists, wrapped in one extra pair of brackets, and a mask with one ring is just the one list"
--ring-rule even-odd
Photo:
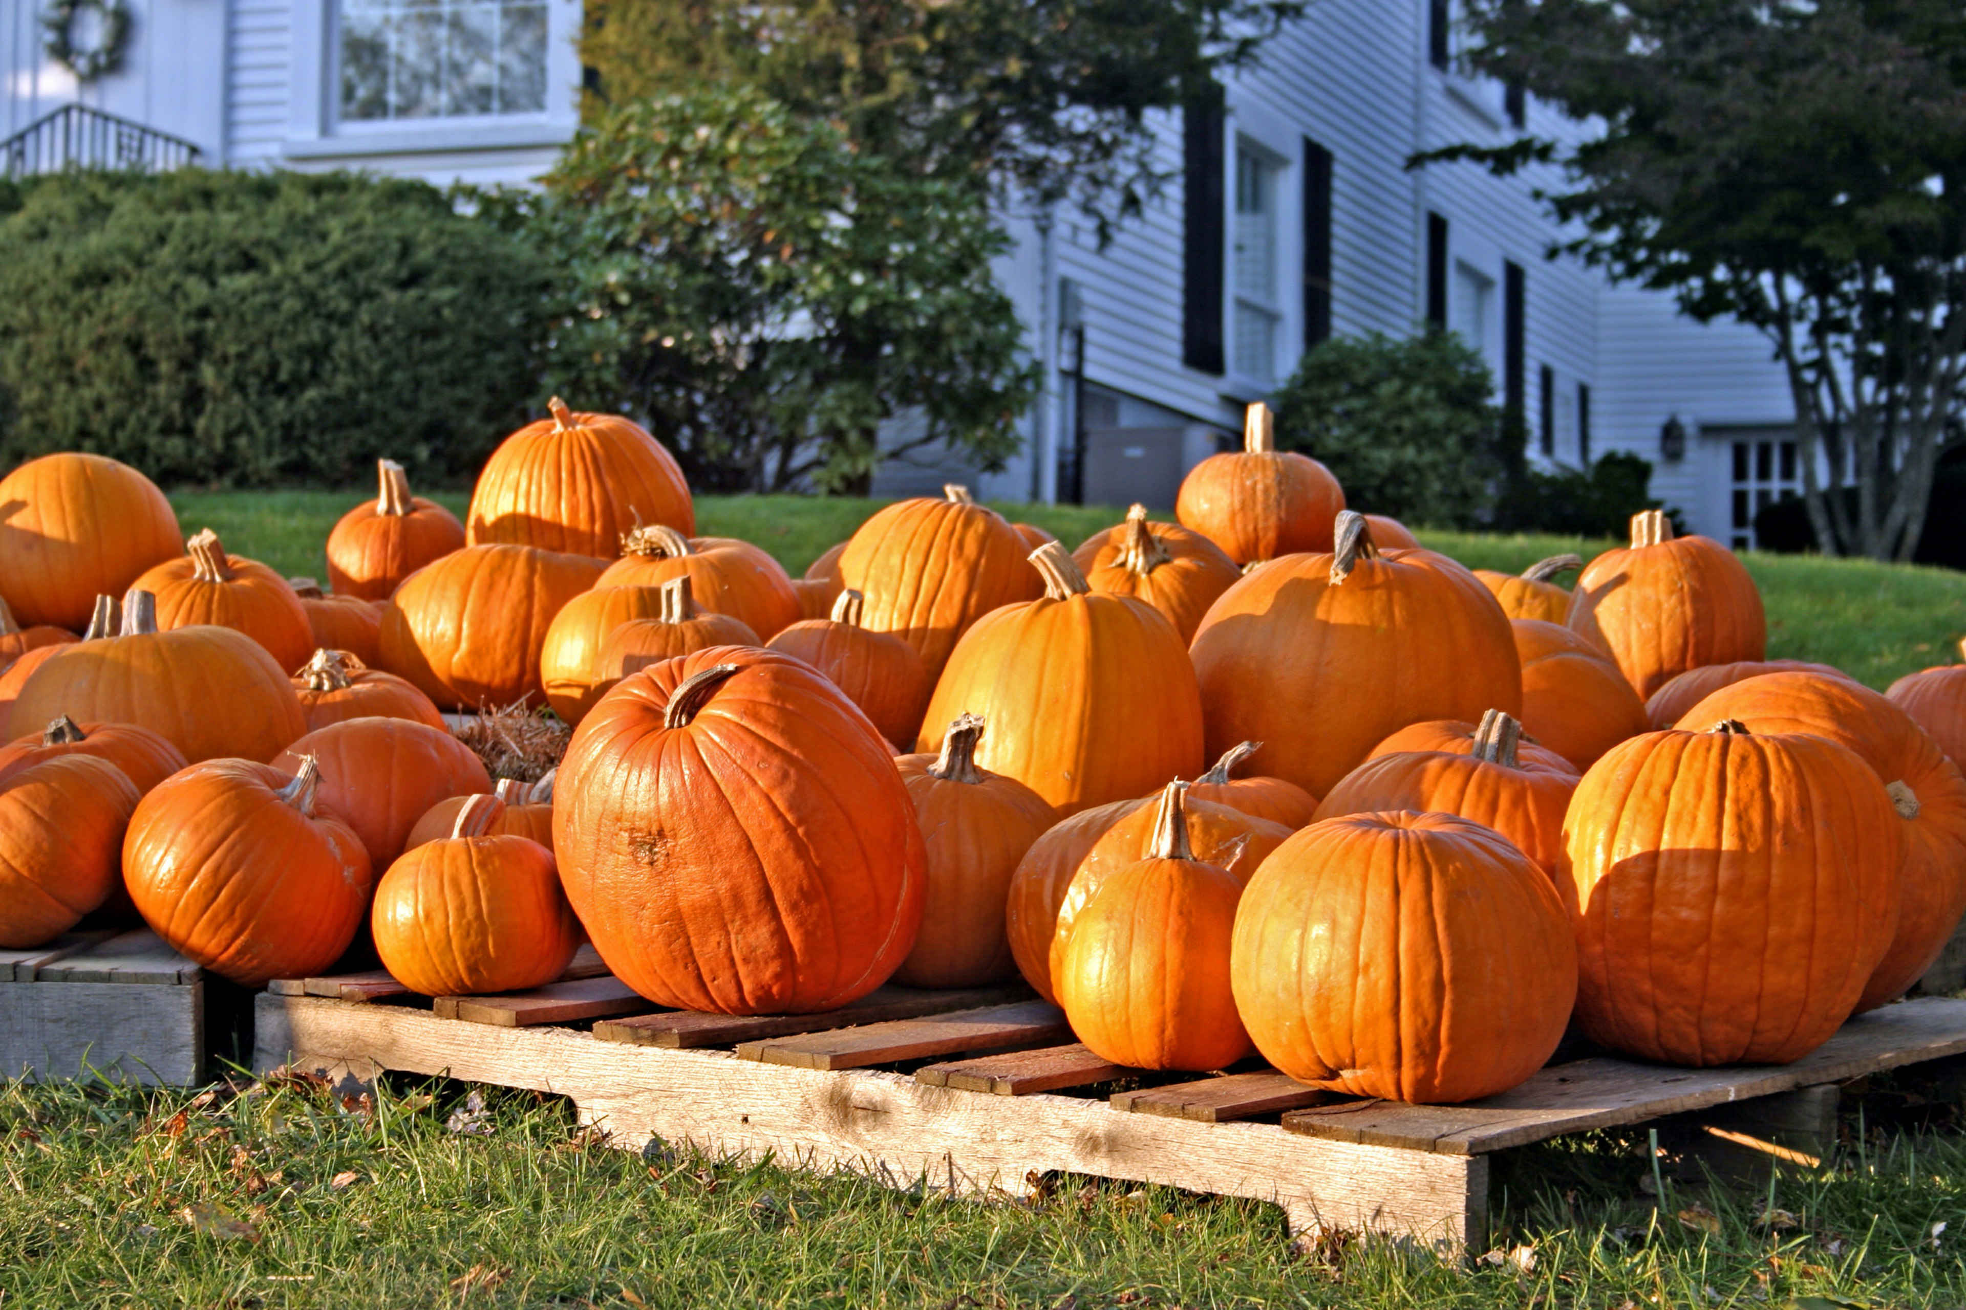
[(1180, 634), (1144, 601), (1093, 593), (1056, 542), (1030, 562), (1044, 599), (1005, 605), (963, 634), (916, 750), (940, 750), (957, 715), (983, 715), (977, 764), (1060, 813), (1201, 772), (1201, 699)]

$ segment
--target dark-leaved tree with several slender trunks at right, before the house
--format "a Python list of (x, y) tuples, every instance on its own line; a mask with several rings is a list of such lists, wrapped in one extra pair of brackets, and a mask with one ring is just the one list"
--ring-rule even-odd
[(1767, 334), (1819, 546), (1911, 558), (1962, 405), (1960, 6), (1471, 0), (1469, 27), (1480, 71), (1602, 130), (1416, 163), (1561, 165), (1559, 249)]

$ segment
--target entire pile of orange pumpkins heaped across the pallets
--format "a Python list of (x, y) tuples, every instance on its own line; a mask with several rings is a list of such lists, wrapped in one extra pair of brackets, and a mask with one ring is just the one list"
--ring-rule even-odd
[[(1573, 1021), (1793, 1061), (1966, 909), (1966, 666), (1769, 662), (1746, 568), (1655, 511), (1471, 572), (1262, 407), (1180, 522), (1068, 552), (950, 487), (804, 577), (558, 401), (468, 522), (385, 462), (324, 587), (94, 456), (0, 505), (6, 947), (136, 913), (248, 986), (358, 947), (468, 994), (588, 939), (720, 1013), (1022, 974), (1121, 1064), (1461, 1102)], [(513, 703), (574, 725), (547, 778), (446, 731)]]

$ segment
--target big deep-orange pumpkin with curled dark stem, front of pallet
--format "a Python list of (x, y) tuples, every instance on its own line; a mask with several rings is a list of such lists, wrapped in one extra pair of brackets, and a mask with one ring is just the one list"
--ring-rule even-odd
[(838, 1010), (887, 982), (922, 923), (893, 756), (775, 650), (700, 650), (602, 697), (560, 764), (552, 839), (596, 951), (659, 1006)]

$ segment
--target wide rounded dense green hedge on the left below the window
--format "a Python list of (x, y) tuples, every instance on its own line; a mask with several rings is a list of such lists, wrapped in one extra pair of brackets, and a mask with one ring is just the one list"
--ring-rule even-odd
[(456, 477), (521, 418), (547, 275), (413, 181), (69, 173), (0, 220), (0, 467)]

